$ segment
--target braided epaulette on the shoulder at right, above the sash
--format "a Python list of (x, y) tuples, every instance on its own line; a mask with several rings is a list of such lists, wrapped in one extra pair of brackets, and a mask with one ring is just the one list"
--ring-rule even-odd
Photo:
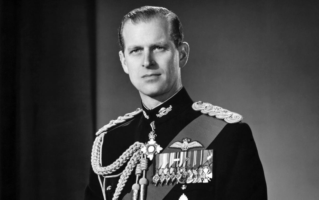
[(200, 111), (203, 114), (208, 114), (209, 116), (216, 117), (217, 119), (224, 119), (230, 124), (238, 123), (242, 120), (242, 116), (238, 113), (230, 112), (229, 110), (223, 109), (219, 106), (203, 103), (201, 101), (195, 102), (192, 105), (192, 108), (195, 111)]

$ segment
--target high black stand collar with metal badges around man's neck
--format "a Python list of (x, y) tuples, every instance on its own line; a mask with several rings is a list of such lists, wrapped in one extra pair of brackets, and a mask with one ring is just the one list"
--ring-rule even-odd
[(160, 124), (175, 117), (185, 109), (191, 108), (192, 104), (193, 100), (189, 97), (186, 89), (182, 87), (173, 96), (151, 110), (146, 108), (142, 102), (143, 119), (148, 123), (155, 121), (155, 124)]

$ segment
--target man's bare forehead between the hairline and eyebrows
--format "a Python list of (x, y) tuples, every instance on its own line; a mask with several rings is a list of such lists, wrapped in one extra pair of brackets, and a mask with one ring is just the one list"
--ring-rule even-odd
[(157, 42), (168, 42), (169, 28), (166, 19), (154, 18), (137, 23), (129, 20), (125, 22), (122, 32), (125, 49), (132, 45), (145, 46)]

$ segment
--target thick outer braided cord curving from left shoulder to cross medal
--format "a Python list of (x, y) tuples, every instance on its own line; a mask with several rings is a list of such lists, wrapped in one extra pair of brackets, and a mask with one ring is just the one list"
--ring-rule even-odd
[(134, 152), (140, 149), (141, 145), (144, 145), (142, 142), (135, 142), (126, 151), (124, 151), (123, 154), (118, 159), (116, 159), (111, 165), (102, 167), (100, 165), (100, 146), (104, 134), (105, 133), (102, 133), (95, 138), (92, 147), (91, 165), (94, 173), (98, 175), (108, 175), (110, 173), (115, 172), (123, 164), (125, 164), (128, 159), (130, 159)]

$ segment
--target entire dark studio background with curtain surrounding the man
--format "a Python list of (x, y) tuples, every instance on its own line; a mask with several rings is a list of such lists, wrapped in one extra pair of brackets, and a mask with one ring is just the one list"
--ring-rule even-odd
[(179, 16), (193, 100), (250, 125), (269, 199), (318, 199), (318, 3), (102, 0), (0, 0), (0, 198), (82, 199), (94, 132), (141, 106), (116, 29), (143, 5)]

